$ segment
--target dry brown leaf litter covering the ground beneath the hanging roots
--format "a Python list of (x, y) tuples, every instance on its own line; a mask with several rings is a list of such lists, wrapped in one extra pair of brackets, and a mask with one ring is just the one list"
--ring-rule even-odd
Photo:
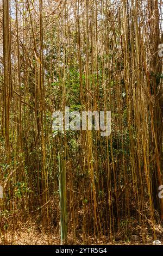
[[(25, 230), (25, 231), (24, 231)], [(124, 241), (123, 239), (110, 243), (107, 242), (107, 237), (103, 237), (100, 241), (93, 237), (87, 237), (87, 245), (152, 245), (153, 237), (149, 235), (143, 241), (139, 236), (134, 236), (136, 241)], [(158, 237), (159, 239), (159, 237)], [(131, 239), (132, 240), (132, 239)], [(82, 234), (74, 241), (73, 237), (68, 237), (70, 245), (82, 245)], [(106, 241), (106, 242), (104, 242)], [(161, 241), (162, 242), (162, 241)], [(29, 226), (28, 228), (18, 229), (16, 231), (6, 231), (0, 236), (0, 245), (60, 245), (60, 239), (58, 231), (53, 233), (45, 233), (43, 231), (38, 231), (34, 226)]]

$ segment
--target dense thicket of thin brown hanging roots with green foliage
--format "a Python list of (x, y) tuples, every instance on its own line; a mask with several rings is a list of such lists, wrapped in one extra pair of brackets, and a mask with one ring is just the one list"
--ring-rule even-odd
[[(62, 228), (73, 244), (157, 236), (162, 5), (1, 1), (1, 235), (34, 223), (49, 236)], [(54, 132), (52, 114), (65, 106), (111, 111), (111, 135)]]

